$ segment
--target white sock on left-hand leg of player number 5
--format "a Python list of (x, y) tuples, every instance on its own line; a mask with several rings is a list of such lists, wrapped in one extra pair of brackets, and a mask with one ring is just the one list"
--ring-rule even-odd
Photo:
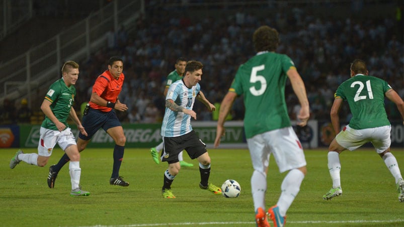
[(267, 175), (254, 170), (251, 176), (251, 192), (254, 201), (254, 210), (262, 207), (265, 210), (265, 192), (267, 191)]

